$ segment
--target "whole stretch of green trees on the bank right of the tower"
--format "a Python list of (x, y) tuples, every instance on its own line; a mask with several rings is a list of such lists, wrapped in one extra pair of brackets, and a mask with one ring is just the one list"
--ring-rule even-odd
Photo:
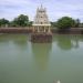
[(58, 29), (70, 29), (70, 28), (83, 28), (83, 23), (81, 23), (80, 19), (73, 19), (70, 17), (62, 17), (55, 22), (51, 22), (52, 28)]

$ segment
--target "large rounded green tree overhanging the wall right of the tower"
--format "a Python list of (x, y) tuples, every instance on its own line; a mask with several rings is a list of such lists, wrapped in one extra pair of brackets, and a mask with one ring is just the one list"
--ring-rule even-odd
[(62, 17), (61, 19), (58, 20), (56, 27), (59, 29), (69, 29), (74, 23), (75, 23), (75, 21), (72, 18), (70, 18), (70, 17)]

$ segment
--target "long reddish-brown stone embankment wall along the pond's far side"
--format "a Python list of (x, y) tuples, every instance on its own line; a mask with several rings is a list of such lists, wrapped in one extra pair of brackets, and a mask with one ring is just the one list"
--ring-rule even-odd
[[(71, 28), (69, 30), (51, 29), (56, 34), (83, 34), (83, 28)], [(0, 33), (32, 33), (32, 28), (0, 28)]]

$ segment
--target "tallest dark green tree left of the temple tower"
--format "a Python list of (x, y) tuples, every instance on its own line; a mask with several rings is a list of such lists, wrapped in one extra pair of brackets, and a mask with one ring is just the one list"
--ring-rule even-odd
[(20, 14), (18, 18), (14, 18), (11, 24), (13, 27), (27, 27), (29, 24), (29, 18), (28, 15)]

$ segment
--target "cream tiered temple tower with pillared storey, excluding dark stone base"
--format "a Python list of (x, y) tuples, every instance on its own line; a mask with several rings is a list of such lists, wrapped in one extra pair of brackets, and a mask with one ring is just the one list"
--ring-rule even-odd
[(37, 14), (33, 21), (33, 32), (42, 33), (42, 32), (51, 32), (51, 23), (48, 19), (46, 9), (42, 7), (37, 9)]

